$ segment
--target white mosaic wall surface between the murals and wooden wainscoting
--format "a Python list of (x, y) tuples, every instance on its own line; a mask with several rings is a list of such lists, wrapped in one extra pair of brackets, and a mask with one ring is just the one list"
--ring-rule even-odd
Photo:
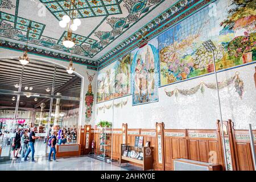
[[(222, 82), (239, 72), (244, 84), (242, 99), (234, 84), (220, 90), (222, 118), (232, 119), (236, 129), (248, 129), (249, 123), (256, 129), (255, 66), (256, 63), (218, 73), (218, 81)], [(122, 123), (128, 123), (129, 128), (154, 129), (155, 122), (164, 122), (166, 129), (216, 129), (216, 119), (220, 119), (217, 90), (205, 88), (204, 94), (197, 92), (191, 96), (179, 94), (177, 97), (168, 97), (164, 92), (164, 89), (189, 89), (201, 81), (214, 83), (215, 80), (214, 75), (208, 75), (163, 86), (158, 89), (159, 101), (150, 104), (132, 106), (131, 95), (117, 98), (114, 105), (125, 101), (127, 104), (122, 107), (114, 106), (114, 109), (110, 107), (96, 110), (96, 123), (107, 120), (113, 122), (114, 128), (121, 128)], [(97, 108), (112, 104), (113, 101), (102, 102), (97, 104)]]

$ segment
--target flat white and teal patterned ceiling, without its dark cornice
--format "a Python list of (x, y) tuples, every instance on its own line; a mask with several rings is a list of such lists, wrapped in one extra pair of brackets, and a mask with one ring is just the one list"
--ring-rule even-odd
[[(67, 30), (59, 26), (59, 20), (69, 13), (69, 2), (70, 0), (0, 0), (0, 36), (5, 40), (2, 44), (19, 43), (19, 48), (23, 47), (28, 35), (31, 51), (38, 49), (37, 51), (49, 55), (63, 54), (62, 57), (68, 59), (65, 55), (70, 55), (71, 50), (62, 45)], [(77, 0), (74, 9), (82, 24), (73, 34), (77, 40), (73, 55), (82, 63), (97, 65), (96, 62), (102, 55), (120, 43), (115, 41), (117, 38), (127, 38), (127, 30), (137, 31), (140, 27), (136, 26), (137, 23), (144, 25), (154, 19), (152, 10), (158, 9), (157, 14), (165, 10), (166, 6), (161, 6), (163, 2), (164, 0)], [(170, 0), (168, 4), (171, 6), (173, 2)], [(147, 18), (147, 15), (151, 16)], [(112, 45), (113, 42), (116, 43)]]

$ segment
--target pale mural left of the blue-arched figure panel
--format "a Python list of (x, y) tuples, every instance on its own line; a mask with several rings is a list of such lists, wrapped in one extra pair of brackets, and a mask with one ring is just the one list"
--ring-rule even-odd
[(97, 102), (130, 94), (130, 63), (128, 54), (98, 73)]

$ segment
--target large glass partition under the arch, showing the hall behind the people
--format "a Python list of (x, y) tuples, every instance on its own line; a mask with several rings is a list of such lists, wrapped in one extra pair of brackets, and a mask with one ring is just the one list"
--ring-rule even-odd
[[(47, 152), (52, 130), (64, 130), (65, 143), (77, 143), (81, 78), (65, 68), (38, 60), (0, 60), (0, 159), (13, 157), (15, 132), (37, 126), (35, 155)], [(60, 143), (60, 144), (65, 144)]]

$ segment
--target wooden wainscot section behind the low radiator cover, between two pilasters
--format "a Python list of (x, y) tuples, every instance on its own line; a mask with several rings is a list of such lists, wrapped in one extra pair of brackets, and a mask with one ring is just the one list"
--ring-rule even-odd
[(217, 130), (164, 129), (165, 169), (172, 160), (183, 158), (220, 164), (224, 168), (221, 140)]

